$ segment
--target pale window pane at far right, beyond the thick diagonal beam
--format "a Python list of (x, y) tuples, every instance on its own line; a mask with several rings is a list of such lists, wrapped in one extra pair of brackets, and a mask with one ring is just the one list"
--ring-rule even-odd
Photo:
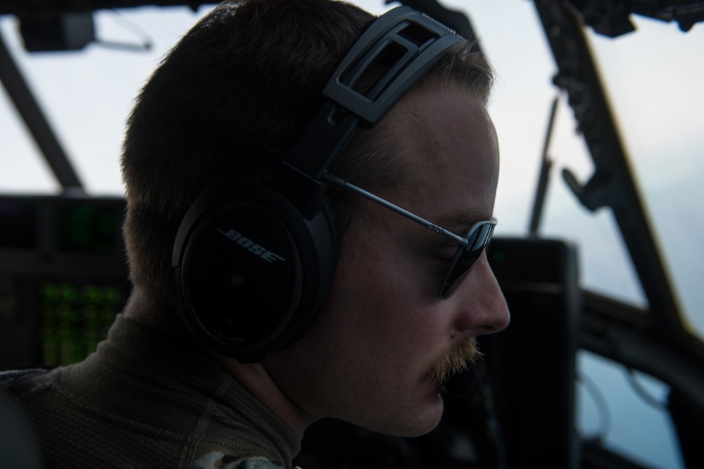
[(704, 30), (631, 15), (637, 29), (589, 34), (631, 171), (686, 330), (704, 339)]

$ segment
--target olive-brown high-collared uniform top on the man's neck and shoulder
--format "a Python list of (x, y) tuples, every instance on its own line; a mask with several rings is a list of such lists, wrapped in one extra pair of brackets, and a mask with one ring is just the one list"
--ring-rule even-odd
[(51, 468), (282, 469), (296, 434), (203, 351), (118, 316), (82, 363), (0, 373)]

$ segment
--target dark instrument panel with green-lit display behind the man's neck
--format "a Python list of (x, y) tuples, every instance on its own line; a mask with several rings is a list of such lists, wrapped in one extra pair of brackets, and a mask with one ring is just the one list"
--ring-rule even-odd
[(0, 366), (66, 365), (127, 301), (118, 197), (0, 196)]

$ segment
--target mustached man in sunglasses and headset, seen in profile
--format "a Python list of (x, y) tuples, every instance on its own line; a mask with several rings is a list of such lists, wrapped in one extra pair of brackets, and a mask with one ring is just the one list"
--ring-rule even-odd
[[(225, 2), (164, 59), (122, 158), (130, 302), (83, 363), (5, 378), (46, 465), (289, 468), (321, 418), (400, 436), (437, 425), (448, 375), (479, 356), (474, 337), (508, 324), (483, 254), (491, 73), (414, 13), (384, 34), (417, 46), (426, 58), (408, 60), (423, 72), (392, 77), (406, 58), (379, 40), (355, 91), (410, 90), (375, 122), (326, 114), (338, 64), (380, 24), (406, 25), (394, 15)], [(324, 131), (310, 124), (320, 115)], [(372, 130), (329, 137), (367, 118)]]

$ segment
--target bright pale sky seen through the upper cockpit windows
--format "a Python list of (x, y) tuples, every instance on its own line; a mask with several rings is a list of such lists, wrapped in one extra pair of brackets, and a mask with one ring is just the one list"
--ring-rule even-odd
[[(355, 2), (373, 13), (380, 0)], [(539, 157), (551, 102), (553, 57), (532, 2), (447, 0), (469, 10), (498, 81), (490, 112), (502, 154), (496, 201), (499, 235), (524, 235), (529, 224)], [(139, 87), (160, 58), (207, 8), (132, 8), (96, 13), (97, 37), (139, 44), (148, 52), (92, 44), (84, 51), (26, 54), (14, 18), (0, 18), (0, 34), (91, 194), (120, 194), (119, 157), (125, 118)], [(704, 27), (680, 32), (677, 25), (634, 18), (638, 31), (617, 39), (590, 35), (608, 83), (615, 113), (641, 182), (654, 229), (667, 257), (687, 320), (704, 331)], [(555, 159), (543, 233), (577, 242), (586, 287), (634, 304), (643, 292), (608, 211), (588, 213), (560, 178), (570, 168), (586, 182), (593, 166), (574, 134), (564, 96), (558, 108), (550, 154)], [(11, 102), (0, 92), (0, 192), (56, 192), (58, 185)], [(669, 467), (669, 466), (668, 466)], [(674, 467), (674, 466), (673, 466)]]

